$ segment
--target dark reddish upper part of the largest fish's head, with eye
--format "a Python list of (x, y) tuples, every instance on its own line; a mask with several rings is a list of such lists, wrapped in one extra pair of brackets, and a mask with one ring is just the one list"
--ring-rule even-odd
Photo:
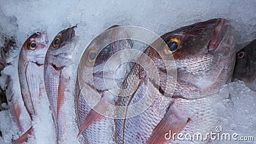
[(211, 19), (176, 29), (161, 36), (168, 45), (164, 51), (172, 52), (175, 60), (211, 53), (225, 43), (230, 27), (228, 20)]

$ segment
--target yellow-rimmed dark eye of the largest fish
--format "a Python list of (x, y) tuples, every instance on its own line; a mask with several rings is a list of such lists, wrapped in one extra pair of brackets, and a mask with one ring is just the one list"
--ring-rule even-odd
[(180, 39), (177, 37), (172, 37), (168, 42), (166, 42), (166, 46), (164, 47), (165, 54), (172, 54), (177, 51), (180, 47)]

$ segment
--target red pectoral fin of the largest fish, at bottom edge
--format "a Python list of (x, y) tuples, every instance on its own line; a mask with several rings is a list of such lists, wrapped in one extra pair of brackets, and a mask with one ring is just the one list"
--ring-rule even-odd
[[(189, 120), (189, 118), (180, 117), (175, 113), (174, 109), (169, 108), (166, 115), (154, 128), (150, 138), (147, 140), (147, 144), (165, 143), (168, 140), (173, 140), (172, 134), (181, 132)], [(172, 132), (171, 136), (169, 135), (170, 131)]]

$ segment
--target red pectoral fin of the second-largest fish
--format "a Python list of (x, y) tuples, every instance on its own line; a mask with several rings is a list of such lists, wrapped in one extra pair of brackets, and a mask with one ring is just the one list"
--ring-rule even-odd
[[(95, 111), (95, 110), (96, 111)], [(86, 118), (84, 118), (84, 122), (82, 127), (79, 129), (79, 133), (77, 135), (77, 137), (93, 122), (95, 122), (96, 120), (98, 120), (99, 118), (102, 117), (102, 115), (100, 115), (100, 113), (104, 113), (107, 109), (107, 103), (104, 100), (100, 100), (100, 102), (93, 108), (90, 110), (90, 112), (88, 113), (88, 115), (86, 116)], [(97, 112), (99, 111), (99, 113)]]

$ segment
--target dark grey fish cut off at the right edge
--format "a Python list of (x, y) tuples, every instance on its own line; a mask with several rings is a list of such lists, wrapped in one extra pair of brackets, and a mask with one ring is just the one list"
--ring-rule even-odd
[(246, 86), (256, 92), (256, 40), (236, 53), (236, 64), (232, 81), (244, 81)]

